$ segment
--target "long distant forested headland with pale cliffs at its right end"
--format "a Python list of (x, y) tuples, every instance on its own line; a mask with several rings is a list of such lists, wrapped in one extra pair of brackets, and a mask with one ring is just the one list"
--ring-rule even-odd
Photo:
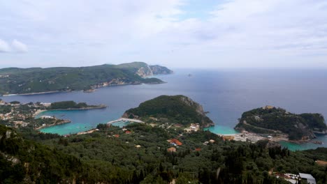
[(133, 62), (78, 68), (3, 68), (0, 69), (0, 95), (75, 91), (121, 84), (158, 84), (152, 75), (172, 73), (166, 67)]

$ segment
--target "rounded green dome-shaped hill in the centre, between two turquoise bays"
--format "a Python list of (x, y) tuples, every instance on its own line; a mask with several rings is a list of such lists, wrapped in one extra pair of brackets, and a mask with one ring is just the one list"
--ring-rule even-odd
[(141, 103), (124, 113), (124, 118), (140, 118), (147, 121), (157, 119), (157, 123), (180, 123), (189, 125), (199, 123), (203, 127), (215, 125), (205, 115), (203, 107), (184, 95), (161, 95)]

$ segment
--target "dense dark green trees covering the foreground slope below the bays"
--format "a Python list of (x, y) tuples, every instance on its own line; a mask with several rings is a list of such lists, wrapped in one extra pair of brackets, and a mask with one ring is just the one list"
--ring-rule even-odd
[[(266, 148), (263, 142), (223, 141), (208, 131), (185, 134), (141, 123), (126, 127), (131, 134), (114, 126), (98, 128), (89, 135), (41, 137), (23, 131), (23, 138), (14, 133), (6, 138), (8, 130), (13, 130), (0, 125), (1, 181), (169, 183), (175, 179), (176, 183), (287, 183), (268, 172), (272, 170), (310, 173), (317, 183), (327, 181), (326, 167), (314, 163), (317, 159), (327, 160), (327, 148), (292, 152)], [(170, 153), (166, 139), (174, 137), (182, 146)], [(210, 139), (215, 142), (203, 144)]]

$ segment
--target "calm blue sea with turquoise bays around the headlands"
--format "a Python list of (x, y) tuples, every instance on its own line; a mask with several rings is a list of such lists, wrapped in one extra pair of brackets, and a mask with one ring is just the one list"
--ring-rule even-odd
[[(1, 97), (6, 102), (57, 102), (74, 100), (89, 105), (107, 105), (106, 109), (48, 111), (49, 115), (70, 119), (71, 123), (44, 128), (42, 132), (69, 135), (96, 128), (99, 123), (120, 118), (127, 109), (159, 95), (187, 95), (203, 105), (215, 122), (209, 128), (218, 134), (238, 133), (233, 128), (243, 112), (273, 105), (292, 113), (320, 113), (327, 117), (327, 70), (256, 68), (256, 69), (175, 69), (173, 75), (157, 75), (164, 84), (108, 86), (94, 93), (73, 91), (40, 95)], [(324, 144), (293, 144), (281, 142), (293, 151), (327, 147), (327, 136), (317, 140)]]

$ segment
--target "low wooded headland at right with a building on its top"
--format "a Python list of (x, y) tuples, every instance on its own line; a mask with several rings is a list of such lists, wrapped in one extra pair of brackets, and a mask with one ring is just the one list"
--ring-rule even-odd
[(284, 133), (292, 140), (312, 139), (315, 137), (314, 132), (327, 133), (321, 114), (292, 114), (271, 106), (244, 112), (235, 129), (267, 134)]

